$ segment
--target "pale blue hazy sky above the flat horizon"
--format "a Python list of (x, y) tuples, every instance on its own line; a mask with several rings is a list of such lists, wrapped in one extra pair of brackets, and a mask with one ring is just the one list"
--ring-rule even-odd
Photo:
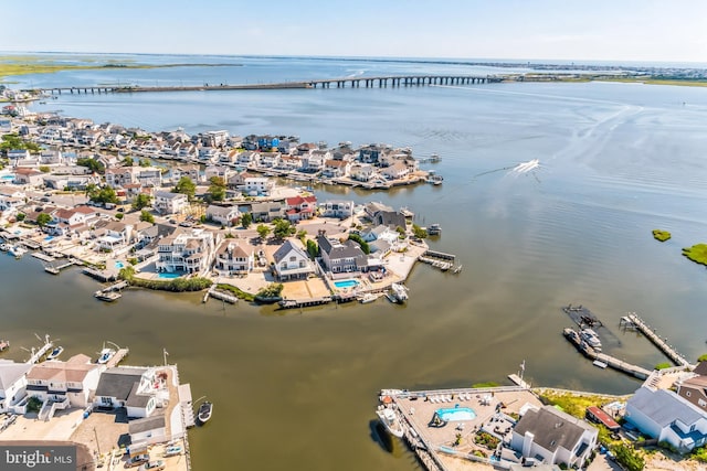
[(707, 62), (707, 0), (27, 0), (6, 52)]

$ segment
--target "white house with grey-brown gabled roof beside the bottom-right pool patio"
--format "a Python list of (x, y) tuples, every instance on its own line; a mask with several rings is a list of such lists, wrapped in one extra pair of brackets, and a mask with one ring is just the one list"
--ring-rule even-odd
[(546, 464), (582, 468), (593, 452), (598, 436), (597, 428), (585, 421), (544, 406), (529, 408), (518, 420), (510, 448), (524, 458), (539, 459)]

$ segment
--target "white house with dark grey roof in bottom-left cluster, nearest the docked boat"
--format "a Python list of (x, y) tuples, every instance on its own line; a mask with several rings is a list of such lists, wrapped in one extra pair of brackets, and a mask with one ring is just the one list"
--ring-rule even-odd
[(155, 368), (115, 367), (101, 374), (94, 405), (125, 407), (128, 417), (149, 417), (157, 407)]

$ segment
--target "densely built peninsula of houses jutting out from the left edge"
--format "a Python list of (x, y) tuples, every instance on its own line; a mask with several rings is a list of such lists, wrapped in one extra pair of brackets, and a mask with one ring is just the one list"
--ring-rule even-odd
[[(105, 281), (129, 267), (145, 280), (207, 278), (251, 296), (278, 285), (268, 298), (284, 307), (368, 302), (390, 288), (402, 302), (414, 263), (435, 255), (407, 208), (318, 201), (312, 189), (440, 184), (409, 148), (151, 133), (20, 105), (2, 110), (2, 247), (36, 249), (50, 272), (68, 257)], [(452, 268), (442, 255), (436, 266)]]

